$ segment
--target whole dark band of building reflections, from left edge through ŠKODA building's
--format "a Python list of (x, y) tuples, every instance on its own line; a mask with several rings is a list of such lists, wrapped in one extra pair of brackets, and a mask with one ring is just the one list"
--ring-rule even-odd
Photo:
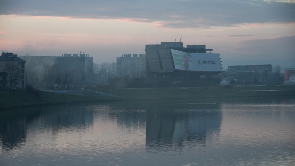
[[(101, 116), (106, 121), (116, 121), (117, 131), (133, 132), (134, 137), (136, 132), (145, 133), (146, 150), (205, 145), (208, 139), (218, 137), (222, 120), (218, 103), (180, 100), (30, 107), (1, 113), (2, 149), (21, 147), (28, 136), (34, 140), (46, 139), (48, 134), (93, 132), (90, 129), (94, 127), (94, 119)], [(41, 132), (48, 134), (43, 136)]]

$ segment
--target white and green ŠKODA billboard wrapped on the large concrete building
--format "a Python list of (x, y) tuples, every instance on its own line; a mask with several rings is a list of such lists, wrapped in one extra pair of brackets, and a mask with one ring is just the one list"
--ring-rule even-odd
[(171, 49), (176, 70), (222, 71), (219, 54), (183, 52)]

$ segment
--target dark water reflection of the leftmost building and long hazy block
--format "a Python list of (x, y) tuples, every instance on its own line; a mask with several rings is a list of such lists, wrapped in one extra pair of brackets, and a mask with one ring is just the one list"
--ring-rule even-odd
[[(90, 110), (90, 111), (89, 111)], [(92, 110), (92, 111), (91, 111)], [(68, 105), (38, 106), (3, 111), (0, 116), (0, 141), (2, 149), (14, 150), (25, 141), (28, 133), (60, 130), (85, 131), (93, 127), (93, 109), (77, 109)]]

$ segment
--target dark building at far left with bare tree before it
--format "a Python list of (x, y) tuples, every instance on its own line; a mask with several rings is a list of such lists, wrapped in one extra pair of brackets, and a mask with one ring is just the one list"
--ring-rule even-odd
[(26, 61), (17, 57), (17, 54), (13, 54), (12, 52), (2, 52), (0, 56), (0, 72), (1, 87), (26, 87)]

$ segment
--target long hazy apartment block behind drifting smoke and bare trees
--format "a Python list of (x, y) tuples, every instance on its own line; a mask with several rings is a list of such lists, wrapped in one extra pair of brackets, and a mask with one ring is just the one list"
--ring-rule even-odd
[(85, 86), (93, 73), (93, 57), (86, 54), (20, 57), (27, 61), (28, 84), (42, 89), (66, 84)]

